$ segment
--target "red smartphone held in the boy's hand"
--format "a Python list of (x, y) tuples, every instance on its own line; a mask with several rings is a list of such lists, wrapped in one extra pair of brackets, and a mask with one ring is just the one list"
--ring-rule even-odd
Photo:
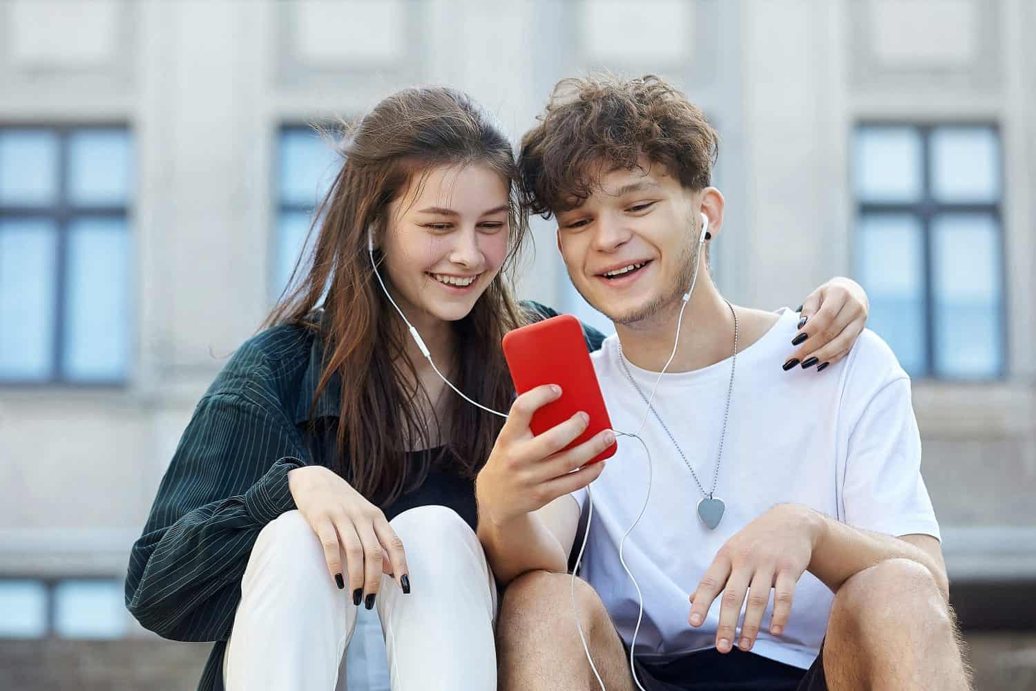
[[(529, 428), (534, 434), (543, 434), (580, 410), (589, 415), (589, 424), (566, 450), (581, 444), (602, 430), (611, 429), (611, 420), (604, 407), (604, 397), (594, 364), (589, 361), (582, 326), (571, 314), (509, 332), (503, 337), (503, 356), (519, 394), (542, 384), (562, 387), (559, 399), (533, 413)], [(591, 459), (587, 465), (613, 456), (616, 448), (616, 444), (611, 444)]]

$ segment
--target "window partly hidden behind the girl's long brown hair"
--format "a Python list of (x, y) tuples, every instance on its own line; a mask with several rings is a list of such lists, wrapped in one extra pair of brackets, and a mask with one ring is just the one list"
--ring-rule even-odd
[(313, 127), (285, 125), (278, 135), (277, 232), (271, 286), (276, 298), (288, 286), (303, 254), (313, 211), (338, 173), (341, 160)]

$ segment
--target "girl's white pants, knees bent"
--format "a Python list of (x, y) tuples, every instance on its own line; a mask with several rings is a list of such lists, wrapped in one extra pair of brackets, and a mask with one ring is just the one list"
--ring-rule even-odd
[[(382, 576), (376, 600), (393, 691), (495, 691), (496, 586), (478, 537), (444, 507), (411, 509), (391, 523), (411, 586), (403, 595)], [(241, 578), (224, 659), (228, 691), (345, 689), (356, 611), (303, 515), (283, 514), (259, 534)]]

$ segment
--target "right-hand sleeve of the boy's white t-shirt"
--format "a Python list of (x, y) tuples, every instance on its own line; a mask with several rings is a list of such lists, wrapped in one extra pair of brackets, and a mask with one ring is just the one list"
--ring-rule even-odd
[(921, 437), (910, 378), (882, 386), (848, 432), (839, 505), (850, 525), (885, 535), (930, 535), (939, 523), (921, 478)]

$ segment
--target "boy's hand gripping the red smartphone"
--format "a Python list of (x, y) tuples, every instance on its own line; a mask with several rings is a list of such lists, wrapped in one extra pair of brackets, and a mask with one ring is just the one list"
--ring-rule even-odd
[(589, 416), (585, 412), (575, 413), (539, 436), (529, 429), (533, 414), (560, 396), (559, 386), (544, 384), (515, 399), (476, 481), (481, 517), (502, 525), (582, 489), (601, 474), (604, 461), (587, 462), (615, 443), (611, 430), (565, 450), (586, 429)]

